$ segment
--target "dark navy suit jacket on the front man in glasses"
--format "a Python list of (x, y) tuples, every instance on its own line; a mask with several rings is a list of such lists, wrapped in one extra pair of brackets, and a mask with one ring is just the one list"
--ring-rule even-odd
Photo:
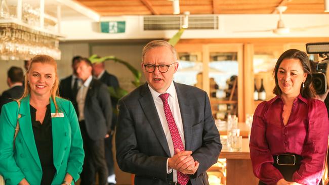
[[(208, 95), (193, 86), (175, 83), (181, 111), (185, 150), (200, 165), (190, 181), (208, 184), (205, 171), (217, 162), (222, 149)], [(122, 171), (136, 174), (135, 184), (168, 184), (167, 159), (171, 156), (165, 133), (147, 83), (118, 102), (116, 160)]]

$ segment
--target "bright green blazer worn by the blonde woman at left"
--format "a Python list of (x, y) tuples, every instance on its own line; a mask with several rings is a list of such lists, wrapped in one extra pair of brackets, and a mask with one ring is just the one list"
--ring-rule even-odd
[[(69, 173), (73, 181), (79, 178), (84, 162), (83, 140), (76, 113), (70, 101), (56, 98), (59, 112), (64, 117), (52, 118), (53, 156), (56, 174), (52, 184), (61, 184), (65, 174)], [(51, 113), (55, 105), (50, 99)], [(13, 148), (14, 133), (18, 113), (20, 130)], [(3, 106), (0, 115), (0, 174), (6, 185), (18, 184), (23, 178), (31, 184), (40, 184), (42, 167), (37, 153), (31, 123), (30, 97), (21, 100), (18, 110), (17, 102)], [(74, 184), (72, 181), (72, 184)]]

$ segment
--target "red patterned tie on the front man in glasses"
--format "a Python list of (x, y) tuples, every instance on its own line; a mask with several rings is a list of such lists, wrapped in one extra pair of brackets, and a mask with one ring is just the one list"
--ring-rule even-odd
[[(159, 97), (161, 98), (161, 100), (163, 102), (163, 109), (165, 110), (170, 134), (172, 136), (175, 154), (176, 154), (176, 149), (179, 149), (181, 152), (183, 152), (183, 151), (185, 151), (185, 149), (184, 149), (184, 145), (182, 142), (182, 138), (178, 132), (178, 128), (176, 126), (172, 111), (170, 110), (170, 107), (168, 104), (169, 94), (166, 92), (165, 94), (162, 94)], [(186, 185), (189, 179), (190, 179), (190, 177), (187, 174), (183, 174), (182, 172), (177, 171), (177, 180), (178, 180), (179, 184)]]

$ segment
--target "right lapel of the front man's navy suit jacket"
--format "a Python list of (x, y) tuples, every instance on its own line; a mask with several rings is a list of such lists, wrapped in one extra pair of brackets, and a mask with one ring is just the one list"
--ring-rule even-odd
[(185, 138), (185, 150), (191, 149), (192, 144), (192, 125), (195, 120), (191, 119), (191, 112), (192, 107), (189, 104), (189, 97), (186, 94), (186, 92), (183, 91), (182, 87), (174, 82), (177, 98), (178, 98), (178, 104), (179, 109), (181, 111), (182, 116), (182, 122), (183, 122), (183, 129), (184, 129), (184, 138)]

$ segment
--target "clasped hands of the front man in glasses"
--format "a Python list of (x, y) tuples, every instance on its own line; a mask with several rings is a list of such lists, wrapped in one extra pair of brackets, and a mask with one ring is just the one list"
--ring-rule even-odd
[(176, 154), (168, 160), (168, 167), (184, 174), (194, 174), (200, 163), (194, 161), (191, 154), (192, 151), (181, 152), (179, 149), (176, 149)]

